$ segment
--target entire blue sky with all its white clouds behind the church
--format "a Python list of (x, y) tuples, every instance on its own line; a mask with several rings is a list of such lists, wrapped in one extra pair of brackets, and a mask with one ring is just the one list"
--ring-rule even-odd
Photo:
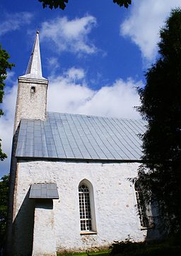
[(134, 0), (129, 9), (112, 0), (69, 0), (66, 9), (42, 9), (37, 0), (1, 0), (0, 42), (16, 64), (8, 72), (0, 138), (8, 173), (17, 77), (25, 74), (40, 30), (48, 111), (139, 118), (136, 87), (156, 60), (159, 30), (180, 0)]

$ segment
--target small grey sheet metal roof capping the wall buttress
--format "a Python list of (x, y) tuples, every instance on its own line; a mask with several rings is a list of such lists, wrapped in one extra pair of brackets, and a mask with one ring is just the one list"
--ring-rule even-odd
[(55, 183), (35, 183), (30, 187), (29, 199), (59, 199)]

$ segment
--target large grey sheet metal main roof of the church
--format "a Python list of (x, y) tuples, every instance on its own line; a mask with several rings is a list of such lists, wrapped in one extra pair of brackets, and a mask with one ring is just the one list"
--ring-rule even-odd
[(142, 120), (47, 113), (47, 120), (21, 120), (16, 157), (72, 160), (140, 160)]

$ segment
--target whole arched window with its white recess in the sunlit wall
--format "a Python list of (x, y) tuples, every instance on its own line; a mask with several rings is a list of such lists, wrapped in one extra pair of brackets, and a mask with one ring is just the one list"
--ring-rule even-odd
[(81, 232), (95, 232), (93, 186), (86, 179), (83, 179), (78, 186), (78, 199)]

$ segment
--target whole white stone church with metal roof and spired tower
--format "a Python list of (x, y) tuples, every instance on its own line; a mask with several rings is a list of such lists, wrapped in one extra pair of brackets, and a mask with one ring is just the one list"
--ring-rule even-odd
[(55, 256), (145, 240), (150, 226), (131, 179), (146, 123), (47, 112), (47, 89), (37, 32), (28, 68), (18, 77), (8, 255)]

